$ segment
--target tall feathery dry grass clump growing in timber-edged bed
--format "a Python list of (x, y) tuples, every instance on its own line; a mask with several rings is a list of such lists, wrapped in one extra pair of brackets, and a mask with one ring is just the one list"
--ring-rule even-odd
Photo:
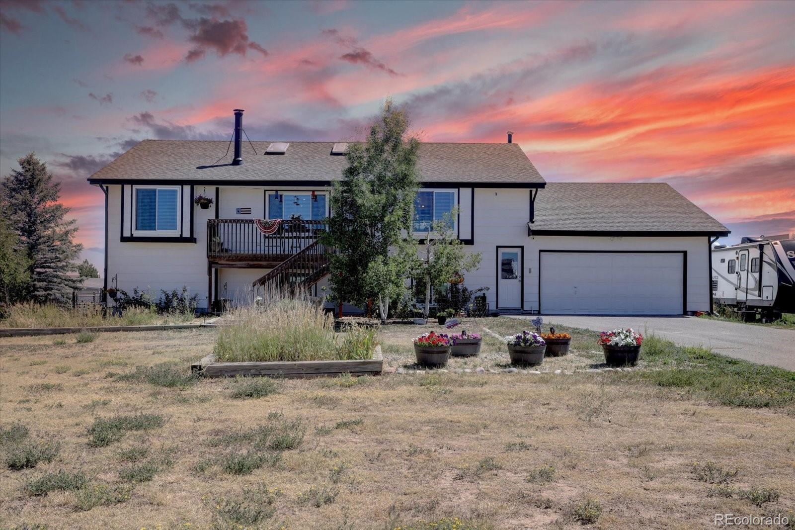
[(301, 293), (258, 296), (230, 319), (215, 343), (222, 362), (371, 359), (376, 344), (375, 330), (335, 333), (322, 304)]

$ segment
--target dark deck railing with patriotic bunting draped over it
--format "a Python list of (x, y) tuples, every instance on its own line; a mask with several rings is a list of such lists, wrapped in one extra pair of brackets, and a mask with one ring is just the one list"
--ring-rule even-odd
[(260, 232), (252, 219), (207, 220), (207, 259), (283, 260), (314, 243), (327, 225), (321, 220), (282, 220), (273, 234)]

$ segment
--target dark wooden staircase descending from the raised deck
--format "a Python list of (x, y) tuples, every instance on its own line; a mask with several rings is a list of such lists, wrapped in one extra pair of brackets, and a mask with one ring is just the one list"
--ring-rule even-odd
[(271, 290), (306, 289), (328, 275), (329, 247), (315, 241), (254, 280), (254, 287)]

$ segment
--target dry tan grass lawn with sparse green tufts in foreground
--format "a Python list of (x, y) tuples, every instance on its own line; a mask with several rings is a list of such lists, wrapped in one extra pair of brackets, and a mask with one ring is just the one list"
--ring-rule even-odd
[[(418, 334), (382, 330), (394, 366), (411, 362), (396, 338), (406, 333)], [(270, 387), (185, 377), (214, 340), (214, 329), (0, 340), (3, 525), (431, 528), (422, 521), (457, 517), (440, 528), (713, 528), (718, 512), (795, 505), (791, 409), (714, 405), (626, 372)], [(484, 357), (504, 363), (492, 346)], [(595, 362), (588, 349), (574, 355)], [(179, 368), (117, 375), (169, 361)], [(95, 423), (114, 416), (133, 419)], [(58, 444), (51, 462), (10, 469), (19, 447), (35, 454), (46, 441)], [(714, 462), (706, 478), (723, 484), (699, 480), (694, 462)]]

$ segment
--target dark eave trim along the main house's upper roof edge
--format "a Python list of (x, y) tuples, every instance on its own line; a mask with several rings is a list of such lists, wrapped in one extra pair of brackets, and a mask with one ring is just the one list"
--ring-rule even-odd
[[(335, 181), (246, 181), (246, 180), (201, 180), (201, 179), (174, 179), (174, 178), (89, 178), (89, 184), (135, 184), (135, 185), (215, 185), (215, 186), (296, 186), (296, 187), (318, 187), (330, 186)], [(544, 188), (546, 182), (461, 182), (461, 181), (444, 181), (444, 182), (421, 182), (421, 188), (457, 188), (463, 185), (471, 185), (478, 188), (515, 188), (515, 189), (540, 189)]]

